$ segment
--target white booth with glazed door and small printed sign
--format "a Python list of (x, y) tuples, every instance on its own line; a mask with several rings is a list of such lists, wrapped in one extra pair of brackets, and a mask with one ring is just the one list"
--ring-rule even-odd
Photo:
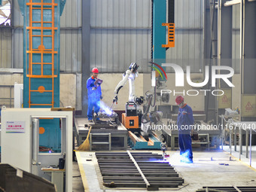
[[(58, 118), (61, 131), (61, 152), (39, 152), (41, 118)], [(41, 168), (56, 165), (66, 156), (66, 192), (72, 192), (72, 111), (50, 111), (50, 108), (6, 108), (2, 110), (2, 163), (47, 178)], [(50, 178), (47, 178), (50, 180)]]

